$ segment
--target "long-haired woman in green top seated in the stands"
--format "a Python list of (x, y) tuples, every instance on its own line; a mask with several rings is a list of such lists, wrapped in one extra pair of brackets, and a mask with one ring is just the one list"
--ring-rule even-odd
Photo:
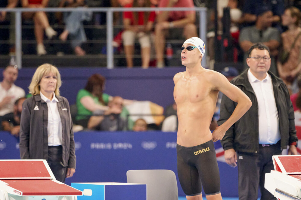
[[(93, 74), (88, 78), (85, 89), (80, 89), (76, 96), (77, 116), (76, 124), (87, 128), (90, 117), (103, 115), (108, 110), (108, 103), (112, 96), (103, 93), (105, 78), (100, 74)], [(123, 99), (123, 104), (130, 104), (132, 100)]]

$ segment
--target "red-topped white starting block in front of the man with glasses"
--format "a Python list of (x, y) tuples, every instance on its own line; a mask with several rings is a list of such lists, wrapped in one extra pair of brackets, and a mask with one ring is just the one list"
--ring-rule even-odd
[(273, 156), (274, 169), (265, 174), (265, 189), (279, 200), (301, 200), (301, 156)]

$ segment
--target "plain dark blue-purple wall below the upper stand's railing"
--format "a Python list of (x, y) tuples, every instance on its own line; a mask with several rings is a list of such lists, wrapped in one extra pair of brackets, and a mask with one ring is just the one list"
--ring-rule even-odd
[[(23, 68), (19, 71), (16, 85), (28, 92), (27, 87), (36, 68)], [(88, 77), (92, 74), (102, 74), (106, 79), (105, 91), (112, 96), (121, 96), (126, 99), (138, 101), (151, 101), (163, 107), (173, 103), (173, 76), (185, 67), (170, 68), (59, 68), (63, 84), (60, 88), (61, 95), (66, 97), (70, 104), (76, 101), (79, 89), (83, 89)], [(2, 80), (0, 69), (0, 80)]]

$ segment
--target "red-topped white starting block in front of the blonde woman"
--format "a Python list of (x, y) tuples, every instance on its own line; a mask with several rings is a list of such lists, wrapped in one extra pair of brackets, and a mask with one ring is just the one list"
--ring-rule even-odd
[(82, 191), (55, 177), (46, 160), (0, 160), (0, 200), (77, 200)]

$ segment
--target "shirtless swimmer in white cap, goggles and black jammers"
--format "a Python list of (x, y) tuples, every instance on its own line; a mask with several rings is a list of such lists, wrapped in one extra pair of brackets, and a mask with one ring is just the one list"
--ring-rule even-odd
[[(179, 181), (188, 200), (202, 199), (202, 185), (206, 199), (220, 200), (219, 168), (213, 142), (222, 139), (252, 104), (224, 75), (202, 67), (205, 44), (200, 38), (189, 38), (181, 50), (186, 71), (175, 74), (173, 94), (178, 114)], [(237, 107), (231, 117), (211, 133), (209, 127), (219, 91), (237, 102)]]

